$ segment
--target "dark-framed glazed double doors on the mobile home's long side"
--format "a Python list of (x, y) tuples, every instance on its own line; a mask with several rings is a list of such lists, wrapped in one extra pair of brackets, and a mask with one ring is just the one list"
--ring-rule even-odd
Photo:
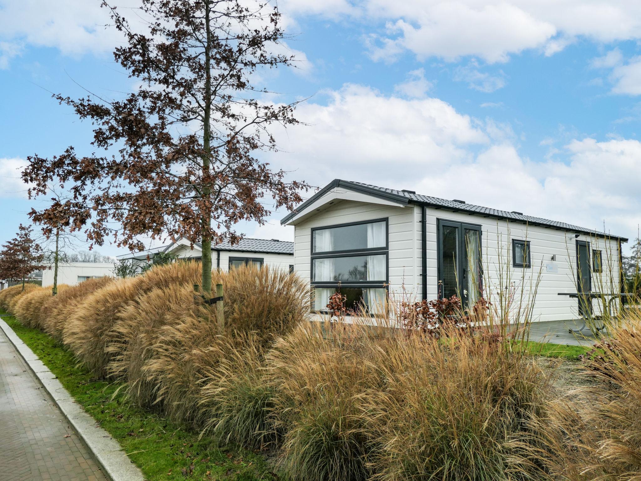
[(438, 221), (438, 297), (471, 307), (481, 292), (481, 227)]

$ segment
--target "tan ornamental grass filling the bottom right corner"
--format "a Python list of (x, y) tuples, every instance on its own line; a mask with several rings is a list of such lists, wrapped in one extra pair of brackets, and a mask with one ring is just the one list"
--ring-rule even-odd
[(524, 466), (540, 459), (540, 475), (549, 480), (641, 479), (640, 328), (641, 313), (628, 309), (610, 338), (585, 357), (586, 385), (532, 419), (538, 437), (515, 443)]

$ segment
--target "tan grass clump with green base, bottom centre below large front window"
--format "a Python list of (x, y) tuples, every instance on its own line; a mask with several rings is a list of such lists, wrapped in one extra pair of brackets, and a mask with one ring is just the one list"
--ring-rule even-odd
[(363, 392), (382, 387), (367, 355), (376, 342), (371, 334), (364, 326), (306, 323), (267, 354), (279, 461), (292, 477), (347, 481), (372, 474), (360, 408)]

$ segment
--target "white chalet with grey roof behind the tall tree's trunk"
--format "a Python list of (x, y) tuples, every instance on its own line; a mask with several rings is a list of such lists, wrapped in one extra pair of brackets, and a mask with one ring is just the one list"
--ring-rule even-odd
[[(199, 242), (194, 242), (192, 247), (189, 241), (178, 239), (168, 246), (120, 255), (117, 258), (118, 260), (132, 259), (142, 267), (153, 262), (154, 254), (160, 252), (192, 260), (200, 260), (203, 255)], [(274, 266), (292, 272), (294, 271), (294, 242), (244, 238), (238, 244), (231, 245), (225, 241), (212, 248), (212, 267), (228, 271), (230, 267), (244, 264), (256, 264), (259, 267)]]

